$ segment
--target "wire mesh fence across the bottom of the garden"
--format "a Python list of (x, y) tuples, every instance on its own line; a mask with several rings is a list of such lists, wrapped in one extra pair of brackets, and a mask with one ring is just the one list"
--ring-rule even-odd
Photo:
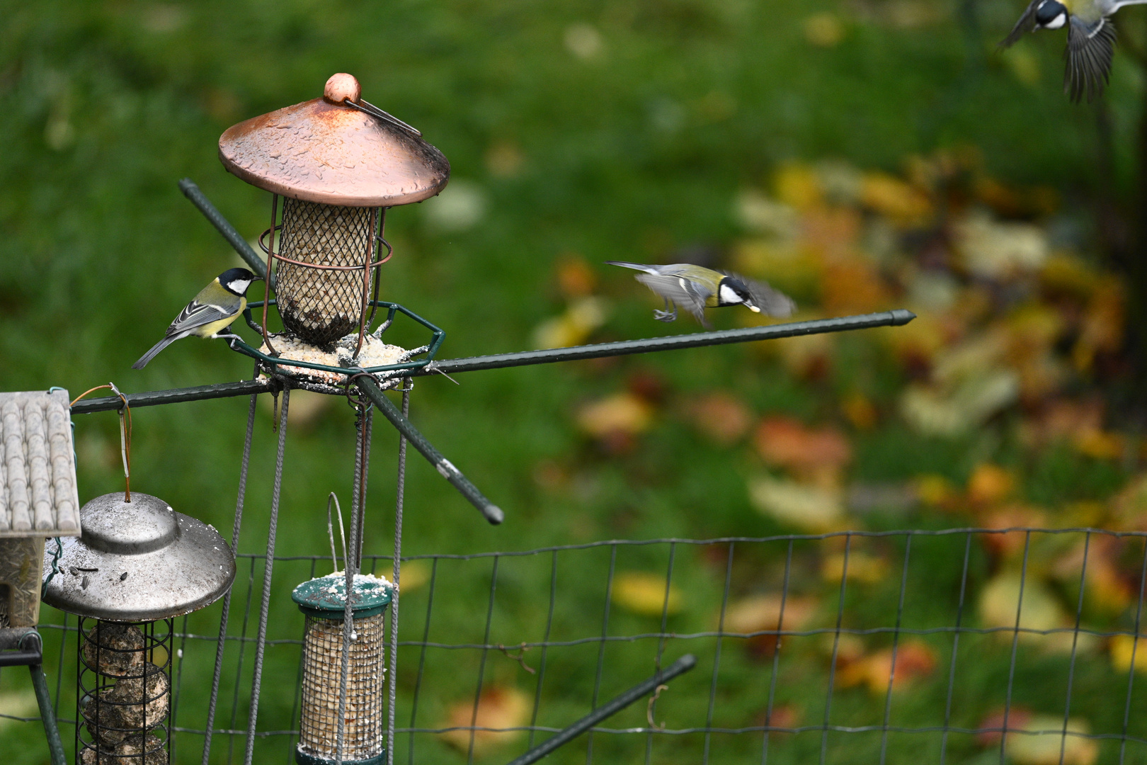
[[(275, 559), (257, 762), (294, 762), (304, 616), (286, 593), (330, 565)], [(241, 556), (212, 763), (243, 758), (262, 569)], [(695, 670), (551, 760), (1147, 762), (1145, 573), (1147, 534), (1083, 529), (409, 556), (395, 762), (506, 763), (686, 653)], [(46, 669), (75, 725), (75, 620), (46, 617)], [(173, 763), (202, 754), (212, 619), (175, 625)]]

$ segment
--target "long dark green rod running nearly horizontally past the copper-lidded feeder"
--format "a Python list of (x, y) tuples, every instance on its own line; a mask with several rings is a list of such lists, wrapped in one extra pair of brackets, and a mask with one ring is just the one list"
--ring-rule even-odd
[[(720, 331), (694, 333), (692, 335), (672, 335), (670, 337), (650, 337), (645, 339), (626, 339), (617, 343), (596, 343), (594, 345), (575, 345), (574, 348), (556, 348), (548, 351), (522, 351), (520, 353), (493, 353), (491, 356), (471, 356), (462, 359), (445, 359), (432, 361), (416, 369), (396, 369), (385, 373), (391, 376), (420, 376), (439, 373), (454, 374), (477, 369), (500, 369), (502, 367), (522, 367), (535, 364), (554, 364), (556, 361), (574, 361), (578, 359), (601, 359), (609, 356), (627, 356), (631, 353), (649, 353), (653, 351), (673, 351), (682, 348), (702, 348), (705, 345), (727, 345), (760, 339), (778, 339), (799, 335), (820, 335), (824, 333), (845, 331), (851, 329), (871, 329), (873, 327), (900, 327), (916, 318), (911, 311), (897, 309), (880, 313), (865, 313), (856, 317), (837, 319), (816, 319), (813, 321), (793, 321), (767, 327), (749, 329), (724, 329)], [(127, 404), (132, 407), (174, 404), (177, 401), (196, 401), (206, 398), (226, 398), (228, 396), (249, 396), (250, 393), (270, 392), (276, 388), (268, 380), (251, 380), (237, 383), (220, 383), (217, 385), (200, 385), (197, 388), (175, 388), (172, 390), (153, 391), (148, 393), (128, 393)], [(123, 406), (116, 396), (91, 398), (77, 401), (72, 414), (91, 412), (111, 412)]]

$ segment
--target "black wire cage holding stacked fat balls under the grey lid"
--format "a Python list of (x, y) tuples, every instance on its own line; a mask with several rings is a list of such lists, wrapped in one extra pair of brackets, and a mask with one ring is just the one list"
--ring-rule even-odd
[(172, 626), (80, 617), (79, 765), (167, 765)]

